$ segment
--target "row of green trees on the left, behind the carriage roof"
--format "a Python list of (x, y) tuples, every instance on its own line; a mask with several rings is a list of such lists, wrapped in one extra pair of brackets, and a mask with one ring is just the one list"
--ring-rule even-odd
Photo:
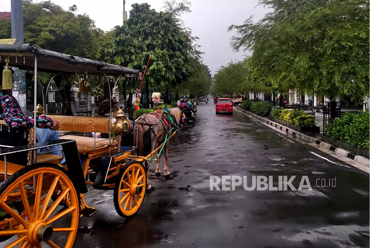
[[(81, 57), (103, 60), (144, 71), (149, 55), (152, 56), (145, 76), (144, 90), (148, 98), (149, 89), (155, 91), (189, 91), (203, 94), (210, 88), (208, 67), (201, 61), (201, 52), (196, 46), (197, 37), (186, 29), (180, 14), (190, 11), (189, 3), (167, 1), (166, 11), (157, 12), (148, 4), (133, 4), (130, 18), (123, 26), (104, 32), (86, 14), (75, 14), (77, 6), (68, 11), (51, 1), (33, 3), (23, 1), (24, 40), (48, 50), (73, 54)], [(0, 38), (11, 36), (10, 20), (0, 20)], [(40, 74), (46, 84), (50, 74)], [(102, 83), (104, 78), (90, 79), (88, 90)], [(70, 75), (57, 76), (54, 81), (63, 98), (65, 115), (72, 115), (70, 92), (78, 78)], [(113, 81), (110, 82), (111, 88)], [(132, 93), (139, 82), (120, 81), (119, 90), (124, 97)], [(105, 98), (111, 94), (108, 84), (97, 92)], [(166, 94), (166, 95), (167, 95)], [(131, 101), (130, 101), (131, 102)], [(145, 101), (147, 104), (149, 100)]]

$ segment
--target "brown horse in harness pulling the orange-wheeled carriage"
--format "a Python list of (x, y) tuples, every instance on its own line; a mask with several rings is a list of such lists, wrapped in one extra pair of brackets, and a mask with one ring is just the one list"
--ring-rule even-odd
[[(162, 110), (157, 110), (155, 112), (160, 112)], [(176, 124), (179, 125), (179, 121), (181, 118), (181, 110), (179, 108), (171, 108), (170, 109), (171, 114), (176, 119)], [(169, 129), (171, 129), (170, 127)], [(153, 151), (157, 146), (164, 143), (164, 140), (166, 138), (166, 130), (164, 127), (164, 124), (161, 120), (159, 120), (158, 116), (147, 113), (141, 115), (139, 118), (135, 120), (135, 127), (134, 127), (134, 145), (136, 147), (136, 152), (138, 156), (147, 156), (150, 152), (148, 151), (148, 148), (145, 149), (144, 147), (144, 134), (150, 132), (151, 134), (151, 144), (150, 144), (150, 152)], [(168, 146), (169, 141), (166, 141), (163, 148), (164, 153), (164, 174), (165, 176), (169, 175), (167, 162), (168, 162)], [(160, 156), (157, 159), (157, 168), (155, 170), (156, 174), (159, 174), (161, 171), (159, 170), (159, 161)], [(151, 188), (151, 185), (149, 184), (149, 161), (145, 161), (146, 164), (146, 170), (147, 170), (147, 189), (149, 190)]]

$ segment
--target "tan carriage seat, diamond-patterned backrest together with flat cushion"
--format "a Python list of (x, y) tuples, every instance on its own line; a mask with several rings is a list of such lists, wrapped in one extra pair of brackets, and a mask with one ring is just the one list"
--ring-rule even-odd
[[(65, 115), (47, 115), (47, 117), (57, 120), (59, 124), (58, 131), (74, 131), (74, 132), (96, 132), (109, 133), (109, 118), (107, 117), (91, 117), (91, 116), (65, 116)], [(77, 143), (78, 153), (85, 155), (90, 151), (98, 148), (107, 147), (109, 139), (96, 138), (94, 149), (94, 138), (83, 137), (78, 135), (63, 135), (63, 139), (75, 140)], [(113, 142), (117, 141), (111, 141)]]

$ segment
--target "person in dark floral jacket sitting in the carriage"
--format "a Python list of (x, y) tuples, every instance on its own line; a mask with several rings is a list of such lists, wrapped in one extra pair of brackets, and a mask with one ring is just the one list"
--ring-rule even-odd
[[(35, 120), (33, 117), (24, 116), (18, 101), (11, 95), (11, 90), (3, 91), (2, 84), (0, 85), (0, 119), (3, 119), (6, 123), (6, 126), (0, 125), (0, 145), (18, 146), (28, 144), (26, 131), (27, 128), (34, 127)], [(38, 128), (58, 129), (58, 122), (46, 116), (39, 116), (36, 124)], [(26, 165), (27, 154), (27, 152), (9, 154), (7, 155), (7, 161)], [(3, 159), (3, 157), (0, 158), (0, 160)]]

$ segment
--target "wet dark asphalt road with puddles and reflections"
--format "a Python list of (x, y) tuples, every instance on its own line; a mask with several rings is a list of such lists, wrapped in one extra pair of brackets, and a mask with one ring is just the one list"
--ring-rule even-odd
[[(118, 216), (112, 191), (86, 194), (100, 212), (81, 218), (74, 247), (370, 247), (368, 174), (236, 110), (216, 115), (201, 103), (196, 118), (171, 140), (171, 180), (152, 164), (156, 189), (135, 217)], [(210, 191), (210, 175), (308, 175), (313, 190)], [(336, 187), (314, 187), (317, 178)]]

